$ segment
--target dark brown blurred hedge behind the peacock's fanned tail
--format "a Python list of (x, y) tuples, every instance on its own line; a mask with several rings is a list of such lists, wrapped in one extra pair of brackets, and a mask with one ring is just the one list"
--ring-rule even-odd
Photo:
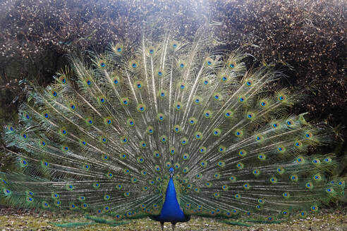
[[(218, 25), (214, 35), (224, 49), (241, 48), (260, 65), (284, 71), (274, 87), (305, 90), (291, 113), (309, 112), (308, 120), (335, 130), (334, 144), (311, 151), (336, 153), (341, 164), (334, 174), (347, 177), (346, 6), (346, 0), (0, 0), (0, 123), (17, 120), (29, 82), (52, 82), (68, 65), (66, 54), (102, 51), (117, 40), (136, 44), (144, 24), (172, 26), (173, 35), (190, 40), (208, 20)], [(0, 151), (0, 170), (13, 168)]]

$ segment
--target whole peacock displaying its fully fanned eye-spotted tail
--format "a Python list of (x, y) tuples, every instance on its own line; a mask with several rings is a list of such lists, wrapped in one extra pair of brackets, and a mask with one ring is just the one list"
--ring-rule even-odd
[(307, 154), (331, 142), (329, 127), (288, 113), (303, 95), (269, 89), (280, 71), (214, 49), (203, 30), (190, 42), (172, 34), (71, 56), (53, 84), (31, 86), (4, 127), (18, 172), (0, 173), (0, 198), (174, 230), (191, 216), (305, 217), (343, 194), (334, 154)]

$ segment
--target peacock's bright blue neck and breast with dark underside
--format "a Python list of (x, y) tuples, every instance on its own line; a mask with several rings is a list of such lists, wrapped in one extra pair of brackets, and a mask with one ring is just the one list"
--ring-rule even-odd
[(167, 185), (166, 188), (166, 196), (162, 211), (159, 215), (150, 216), (150, 218), (160, 221), (161, 223), (171, 222), (173, 224), (190, 220), (190, 216), (185, 215), (178, 204), (176, 189), (175, 185), (173, 184), (172, 176), (170, 177), (169, 185)]

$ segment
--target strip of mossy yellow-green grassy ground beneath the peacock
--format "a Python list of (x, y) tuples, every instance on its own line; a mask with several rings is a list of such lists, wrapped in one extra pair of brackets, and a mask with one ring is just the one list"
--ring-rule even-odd
[[(83, 216), (68, 214), (53, 215), (49, 213), (35, 213), (16, 211), (1, 211), (0, 231), (3, 230), (141, 230), (160, 231), (159, 223), (149, 218), (141, 220), (129, 220), (130, 223), (121, 226), (110, 226), (105, 224), (85, 225), (79, 227), (56, 227), (54, 223), (90, 223)], [(171, 230), (171, 224), (165, 223), (165, 230)], [(193, 217), (188, 223), (178, 223), (176, 231), (179, 230), (347, 230), (347, 210), (335, 209), (334, 211), (321, 211), (315, 216), (306, 219), (293, 219), (279, 224), (256, 224), (251, 227), (233, 226), (219, 223), (217, 220)]]

